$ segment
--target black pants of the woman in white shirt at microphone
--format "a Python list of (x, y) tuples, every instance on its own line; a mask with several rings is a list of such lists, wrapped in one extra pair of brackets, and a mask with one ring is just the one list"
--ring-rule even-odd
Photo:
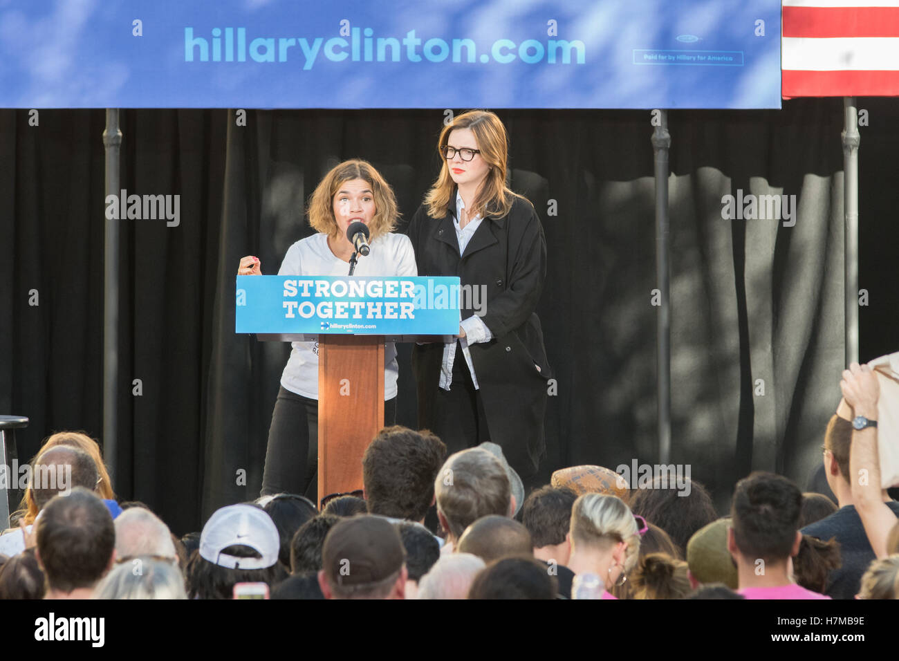
[[(396, 397), (384, 402), (384, 425), (395, 421)], [(281, 386), (271, 413), (261, 495), (298, 494), (316, 503), (317, 472), (318, 400)]]

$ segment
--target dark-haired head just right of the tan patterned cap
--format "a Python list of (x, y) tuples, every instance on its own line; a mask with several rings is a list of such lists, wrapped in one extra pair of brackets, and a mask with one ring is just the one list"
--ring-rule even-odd
[(718, 518), (706, 487), (690, 478), (687, 483), (687, 487), (681, 489), (675, 486), (673, 479), (658, 476), (651, 488), (634, 489), (628, 504), (634, 514), (668, 533), (681, 558), (693, 533)]

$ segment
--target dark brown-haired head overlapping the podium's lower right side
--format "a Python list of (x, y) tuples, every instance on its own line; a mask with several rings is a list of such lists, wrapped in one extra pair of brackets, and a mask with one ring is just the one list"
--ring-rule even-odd
[(434, 480), (446, 445), (427, 430), (382, 429), (362, 457), (362, 485), (369, 514), (424, 523), (434, 504)]

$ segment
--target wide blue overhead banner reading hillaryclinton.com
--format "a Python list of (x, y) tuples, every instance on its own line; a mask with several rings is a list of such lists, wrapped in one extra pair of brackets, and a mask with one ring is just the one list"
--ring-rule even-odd
[(12, 108), (779, 108), (779, 0), (0, 3)]

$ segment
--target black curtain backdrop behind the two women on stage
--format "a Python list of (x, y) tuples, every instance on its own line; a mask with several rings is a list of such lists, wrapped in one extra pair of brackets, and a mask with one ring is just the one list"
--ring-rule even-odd
[[(869, 122), (859, 152), (868, 360), (897, 348), (899, 102), (859, 107)], [(539, 315), (557, 394), (541, 477), (581, 463), (654, 464), (650, 113), (498, 114), (512, 188), (534, 203), (547, 237)], [(122, 112), (122, 187), (180, 195), (181, 219), (173, 228), (121, 221), (121, 498), (147, 503), (182, 534), (258, 496), (289, 346), (235, 335), (238, 260), (258, 255), (276, 273), (290, 244), (311, 233), (304, 201), (344, 158), (376, 165), (411, 218), (438, 172), (443, 118), (247, 111), (238, 126), (235, 111)], [(31, 418), (18, 435), (23, 458), (54, 431), (102, 434), (104, 112), (29, 119), (0, 111), (0, 414)], [(752, 469), (804, 487), (840, 397), (842, 103), (673, 111), (669, 123), (672, 462), (688, 465), (723, 513)], [(796, 195), (796, 225), (722, 219), (722, 195), (738, 189)], [(399, 397), (399, 422), (414, 425), (408, 347)]]

